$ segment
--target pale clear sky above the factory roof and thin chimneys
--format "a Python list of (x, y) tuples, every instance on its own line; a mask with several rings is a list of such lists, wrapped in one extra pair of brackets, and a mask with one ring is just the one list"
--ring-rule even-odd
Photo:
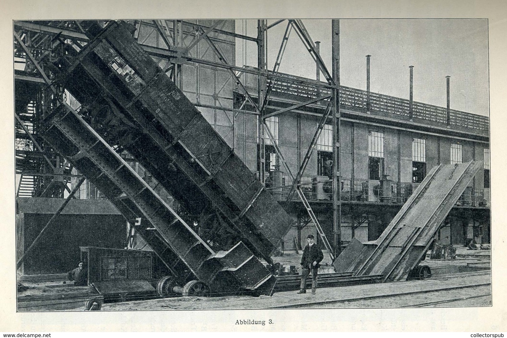
[[(275, 20), (268, 20), (268, 24)], [(284, 21), (268, 30), (268, 69), (278, 53)], [(331, 73), (331, 20), (303, 20)], [(245, 32), (245, 20), (236, 20)], [(246, 35), (257, 35), (257, 20), (246, 20)], [(246, 49), (246, 58), (244, 51)], [(450, 76), (451, 109), (489, 115), (488, 21), (486, 19), (341, 19), (341, 84), (366, 90), (366, 55), (372, 92), (409, 98), (414, 66), (414, 100), (446, 107)], [(236, 39), (236, 64), (257, 66), (257, 47)], [(280, 72), (315, 79), (315, 62), (296, 32), (289, 36)], [(324, 77), (320, 76), (321, 80)]]

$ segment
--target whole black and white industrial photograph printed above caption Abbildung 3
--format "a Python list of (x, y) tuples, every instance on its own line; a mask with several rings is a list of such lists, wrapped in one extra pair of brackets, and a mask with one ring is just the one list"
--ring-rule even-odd
[(12, 21), (14, 313), (502, 302), (488, 18), (60, 15)]

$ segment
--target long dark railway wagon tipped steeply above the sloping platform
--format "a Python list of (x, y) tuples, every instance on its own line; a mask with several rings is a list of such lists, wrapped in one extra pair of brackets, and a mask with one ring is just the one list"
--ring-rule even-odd
[(60, 60), (80, 115), (128, 151), (191, 214), (212, 206), (257, 256), (271, 254), (291, 219), (124, 22), (89, 25), (92, 39)]

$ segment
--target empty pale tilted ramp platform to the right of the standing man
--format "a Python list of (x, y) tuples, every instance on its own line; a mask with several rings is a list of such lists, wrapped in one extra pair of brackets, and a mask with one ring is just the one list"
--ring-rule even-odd
[(482, 167), (482, 161), (433, 167), (377, 241), (353, 240), (334, 262), (336, 271), (352, 272), (353, 276), (384, 275), (383, 281), (407, 279)]

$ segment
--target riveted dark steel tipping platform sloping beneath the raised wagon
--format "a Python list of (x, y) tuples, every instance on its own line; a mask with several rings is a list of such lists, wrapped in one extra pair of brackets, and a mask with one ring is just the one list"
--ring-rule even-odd
[(242, 242), (227, 252), (210, 249), (76, 111), (62, 104), (43, 124), (44, 139), (113, 202), (172, 272), (160, 293), (196, 281), (211, 294), (271, 294), (275, 277)]

